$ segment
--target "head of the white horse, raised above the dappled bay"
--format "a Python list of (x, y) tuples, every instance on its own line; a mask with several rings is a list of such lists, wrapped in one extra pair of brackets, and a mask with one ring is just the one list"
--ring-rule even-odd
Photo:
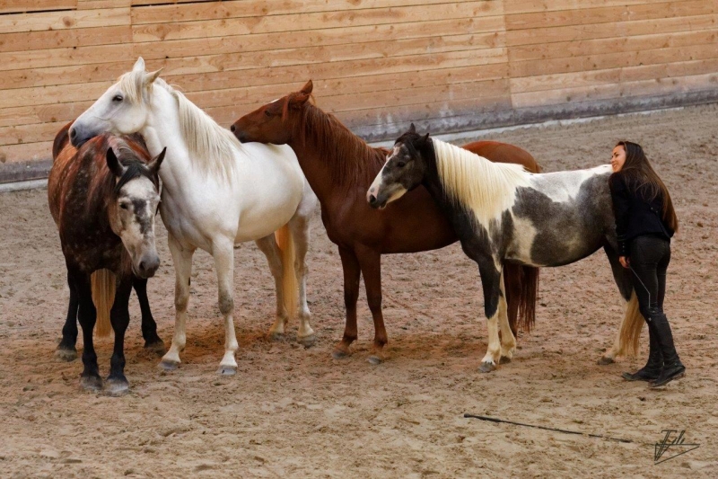
[(119, 77), (97, 102), (84, 111), (70, 128), (70, 141), (79, 147), (100, 133), (129, 135), (144, 128), (148, 116), (149, 95), (161, 70), (147, 73), (139, 58), (131, 72)]

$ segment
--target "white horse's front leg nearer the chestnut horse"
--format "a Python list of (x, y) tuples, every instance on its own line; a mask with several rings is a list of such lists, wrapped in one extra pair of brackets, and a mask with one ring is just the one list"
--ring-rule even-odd
[[(232, 238), (233, 239), (233, 238)], [(220, 313), (224, 316), (224, 357), (219, 363), (219, 373), (232, 376), (237, 372), (234, 353), (239, 349), (234, 333), (234, 242), (221, 238), (213, 241), (212, 256), (217, 271), (217, 293)]]

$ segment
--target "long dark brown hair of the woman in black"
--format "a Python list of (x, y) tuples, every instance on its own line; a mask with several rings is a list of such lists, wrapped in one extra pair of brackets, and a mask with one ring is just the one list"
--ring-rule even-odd
[(676, 210), (673, 208), (673, 201), (670, 200), (668, 188), (648, 163), (644, 148), (631, 141), (619, 141), (616, 146), (623, 146), (626, 151), (626, 163), (623, 164), (620, 172), (614, 174), (620, 174), (625, 178), (628, 189), (640, 194), (646, 200), (654, 200), (661, 195), (663, 222), (672, 231), (678, 231), (679, 219), (676, 217)]

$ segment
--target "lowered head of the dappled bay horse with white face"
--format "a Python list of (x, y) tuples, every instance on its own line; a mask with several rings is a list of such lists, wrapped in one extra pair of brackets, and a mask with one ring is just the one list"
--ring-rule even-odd
[(109, 225), (129, 253), (132, 271), (140, 278), (151, 278), (160, 266), (154, 244), (154, 215), (160, 203), (158, 173), (167, 148), (145, 164), (127, 147), (107, 150), (107, 165), (115, 176), (109, 201)]

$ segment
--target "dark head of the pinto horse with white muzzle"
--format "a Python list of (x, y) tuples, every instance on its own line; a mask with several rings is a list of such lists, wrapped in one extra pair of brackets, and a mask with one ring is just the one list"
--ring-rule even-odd
[(385, 208), (387, 203), (398, 200), (424, 181), (426, 163), (423, 155), (428, 153), (426, 146), (430, 143), (429, 134), (417, 134), (414, 123), (407, 133), (398, 137), (387, 155), (387, 162), (366, 192), (369, 206)]

